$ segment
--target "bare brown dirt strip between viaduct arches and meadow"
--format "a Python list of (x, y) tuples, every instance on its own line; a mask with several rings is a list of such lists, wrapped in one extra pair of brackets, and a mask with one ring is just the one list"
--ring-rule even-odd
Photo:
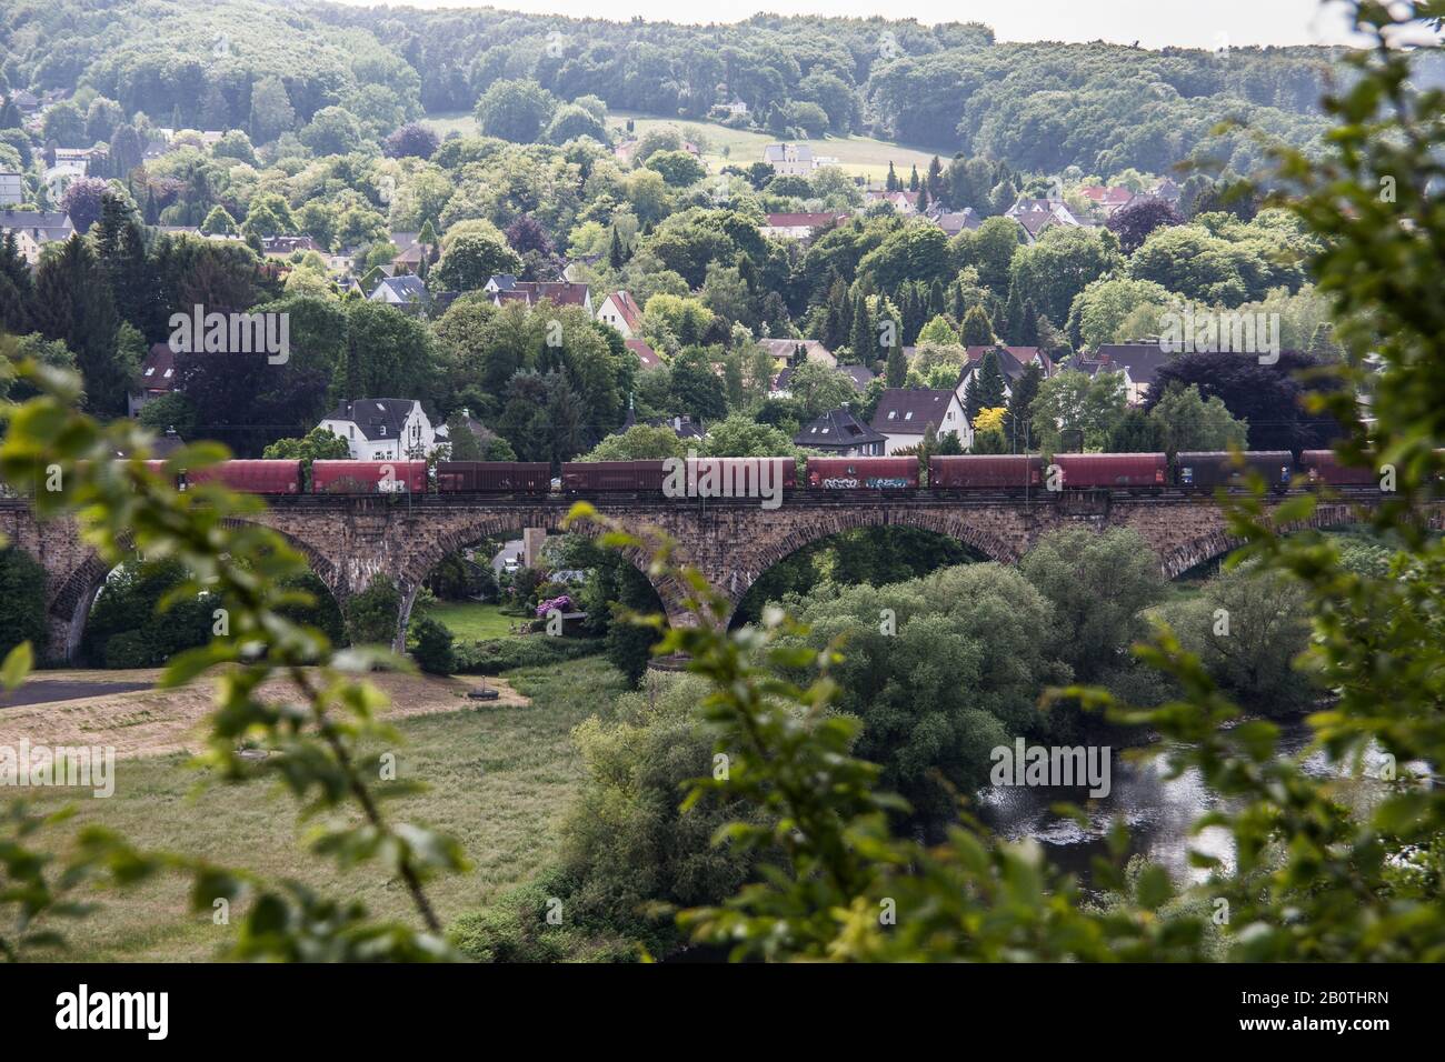
[[(198, 751), (204, 744), (205, 717), (215, 707), (214, 679), (202, 678), (182, 689), (155, 689), (159, 675), (159, 669), (39, 672), (36, 686), (53, 683), (52, 689), (65, 694), (66, 699), (0, 705), (0, 746), (17, 746), (22, 738), (32, 746), (113, 746), (120, 757)], [(383, 712), (389, 720), (527, 704), (503, 679), (487, 679), (487, 686), (501, 692), (497, 701), (468, 701), (467, 691), (478, 686), (480, 679), (381, 672), (368, 678), (392, 699)], [(136, 689), (137, 683), (143, 688)], [(84, 685), (94, 685), (95, 695), (81, 695), (84, 691), (78, 688)], [(127, 689), (114, 692), (117, 685)], [(23, 694), (26, 686), (17, 692)], [(262, 688), (263, 695), (277, 698), (289, 692), (290, 685), (285, 681)]]

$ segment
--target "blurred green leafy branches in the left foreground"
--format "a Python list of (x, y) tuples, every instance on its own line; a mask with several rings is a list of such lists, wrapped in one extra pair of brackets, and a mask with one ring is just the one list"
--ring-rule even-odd
[[(9, 354), (9, 351), (6, 351)], [(351, 673), (373, 666), (403, 666), (386, 653), (334, 653), (316, 627), (288, 618), (311, 607), (311, 595), (290, 590), (306, 574), (305, 558), (280, 536), (247, 522), (262, 503), (218, 483), (173, 488), (182, 468), (201, 468), (224, 457), (218, 446), (188, 446), (166, 462), (163, 474), (144, 465), (147, 438), (120, 422), (101, 428), (75, 412), (78, 380), (25, 360), (19, 373), (38, 396), (4, 410), (9, 432), (0, 446), (0, 475), (33, 491), (42, 519), (71, 516), (101, 559), (118, 565), (133, 553), (165, 559), (185, 579), (162, 597), (169, 608), (204, 595), (225, 610), (227, 633), (175, 656), (163, 686), (189, 683), (214, 672), (217, 711), (210, 718), (199, 763), (212, 780), (275, 779), (301, 808), (324, 825), (312, 851), (341, 865), (370, 861), (406, 890), (420, 928), (379, 922), (364, 905), (334, 900), (296, 883), (264, 881), (244, 868), (228, 868), (184, 852), (140, 851), (103, 826), (85, 826), (59, 845), (65, 857), (42, 847), (65, 813), (36, 816), (23, 803), (0, 815), (0, 955), (16, 959), (38, 948), (64, 944), (58, 919), (84, 915), (82, 886), (130, 884), (162, 873), (191, 881), (192, 909), (214, 913), (221, 902), (234, 912), (234, 938), (227, 955), (240, 959), (364, 961), (435, 959), (451, 952), (426, 894), (436, 873), (465, 867), (461, 848), (425, 826), (393, 822), (383, 813), (374, 753), (361, 744), (387, 747), (397, 734), (377, 721), (384, 698)], [(10, 358), (3, 363), (10, 373)], [(116, 461), (116, 452), (133, 454)], [(45, 470), (58, 465), (59, 491), (43, 487)], [(394, 616), (394, 614), (393, 614)], [(33, 647), (12, 650), (0, 682), (12, 688), (33, 663)], [(289, 696), (263, 696), (270, 681), (289, 686)], [(262, 748), (264, 759), (241, 756)], [(392, 783), (386, 795), (413, 787)], [(342, 811), (350, 813), (342, 813)]]

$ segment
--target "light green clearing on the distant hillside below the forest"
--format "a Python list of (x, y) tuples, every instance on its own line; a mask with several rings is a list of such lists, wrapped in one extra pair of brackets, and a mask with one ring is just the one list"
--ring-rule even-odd
[[(642, 136), (649, 129), (656, 126), (676, 126), (678, 130), (681, 130), (689, 140), (701, 142), (701, 146), (705, 149), (704, 157), (714, 170), (718, 170), (728, 163), (747, 166), (751, 162), (762, 162), (763, 147), (777, 142), (777, 137), (772, 133), (753, 133), (749, 130), (728, 129), (727, 126), (720, 126), (715, 121), (660, 118), (633, 111), (608, 113), (607, 126), (610, 129), (620, 130), (626, 126), (629, 118), (631, 118), (633, 129), (637, 136)], [(477, 123), (473, 120), (471, 114), (438, 114), (423, 118), (422, 124), (431, 127), (438, 136), (447, 136), (452, 131), (461, 133), (462, 136), (477, 134)], [(858, 176), (866, 176), (870, 181), (881, 181), (886, 178), (889, 172), (889, 162), (893, 163), (899, 176), (907, 179), (910, 166), (916, 165), (918, 172), (923, 173), (928, 169), (929, 160), (933, 157), (932, 152), (905, 147), (903, 144), (890, 143), (887, 140), (874, 140), (873, 137), (866, 136), (827, 136), (811, 140), (809, 143), (812, 144), (814, 155), (831, 155), (838, 159), (844, 170)]]

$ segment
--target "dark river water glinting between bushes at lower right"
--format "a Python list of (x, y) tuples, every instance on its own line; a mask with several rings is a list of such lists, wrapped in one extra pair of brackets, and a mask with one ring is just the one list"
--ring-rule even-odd
[[(1303, 720), (1276, 721), (1280, 728), (1279, 750), (1296, 756), (1309, 746), (1311, 730)], [(978, 799), (978, 818), (996, 834), (1009, 839), (1032, 837), (1043, 845), (1049, 863), (1078, 874), (1085, 886), (1090, 864), (1095, 855), (1108, 855), (1105, 835), (1114, 821), (1123, 816), (1129, 826), (1129, 852), (1143, 854), (1166, 867), (1179, 881), (1199, 881), (1207, 870), (1191, 867), (1189, 850), (1214, 855), (1225, 865), (1233, 863), (1233, 841), (1227, 831), (1209, 826), (1192, 835), (1191, 825), (1205, 812), (1220, 806), (1220, 796), (1204, 785), (1194, 767), (1176, 779), (1166, 779), (1168, 757), (1126, 760), (1123, 750), (1113, 750), (1110, 792), (1097, 799), (1087, 789), (985, 786)], [(1331, 764), (1321, 751), (1303, 760), (1306, 773), (1315, 777), (1335, 776), (1341, 782), (1341, 799), (1353, 806), (1368, 806), (1384, 792), (1376, 780), (1383, 757), (1373, 750), (1366, 754), (1363, 776), (1353, 776), (1345, 766)], [(1088, 815), (1088, 828), (1051, 811), (1055, 803), (1075, 803)]]

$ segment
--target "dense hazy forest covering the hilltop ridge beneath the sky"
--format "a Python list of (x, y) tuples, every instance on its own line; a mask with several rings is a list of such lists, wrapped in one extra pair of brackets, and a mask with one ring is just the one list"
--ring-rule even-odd
[[(977, 23), (759, 14), (699, 29), (263, 0), (20, 0), (0, 16), (0, 91), (90, 87), (127, 116), (246, 129), (256, 143), (331, 105), (390, 130), (533, 79), (613, 110), (701, 118), (741, 101), (733, 121), (780, 134), (866, 131), (1104, 176), (1191, 156), (1251, 169), (1257, 143), (1217, 131), (1222, 118), (1309, 143), (1332, 68), (1321, 48), (998, 43)], [(1433, 84), (1438, 68), (1419, 77)]]

